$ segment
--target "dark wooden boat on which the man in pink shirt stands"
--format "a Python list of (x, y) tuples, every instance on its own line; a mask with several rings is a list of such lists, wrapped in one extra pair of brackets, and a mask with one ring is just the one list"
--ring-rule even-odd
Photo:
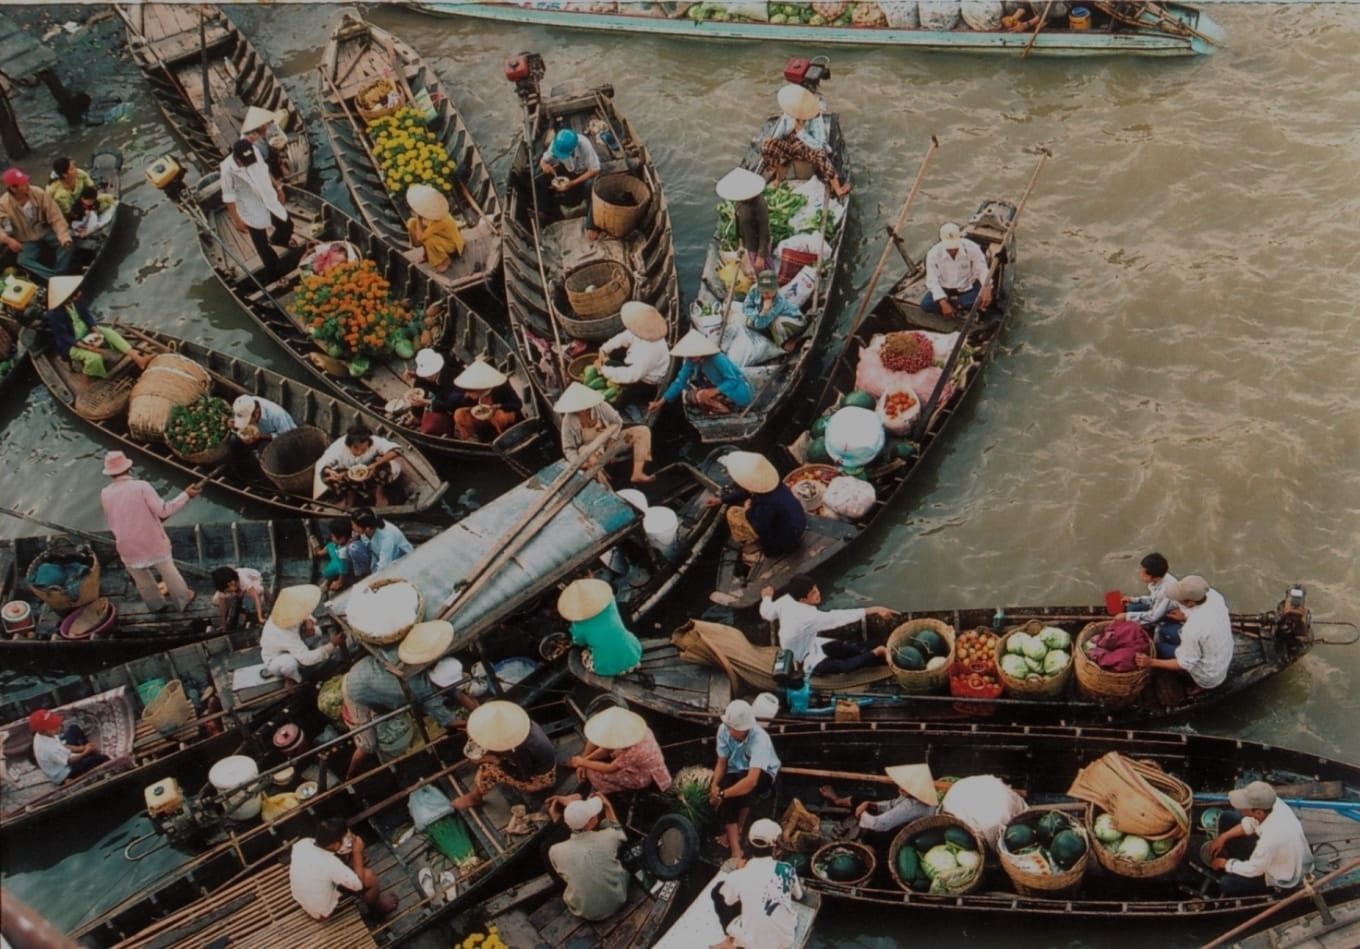
[[(0, 655), (18, 661), (23, 655), (41, 654), (69, 663), (163, 651), (212, 634), (218, 608), (212, 604), (209, 578), (216, 567), (253, 567), (271, 594), (295, 583), (311, 583), (317, 575), (309, 529), (301, 521), (170, 525), (166, 533), (180, 572), (197, 594), (184, 613), (147, 609), (126, 567), (114, 553), (113, 534), (107, 532), (75, 541), (63, 534), (0, 540), (0, 600), (22, 600), (33, 610), (33, 636), (0, 635)], [(99, 560), (99, 596), (107, 597), (116, 610), (107, 632), (80, 639), (63, 636), (63, 616), (34, 594), (24, 579), (37, 557), (63, 544), (73, 544), (86, 556)]]

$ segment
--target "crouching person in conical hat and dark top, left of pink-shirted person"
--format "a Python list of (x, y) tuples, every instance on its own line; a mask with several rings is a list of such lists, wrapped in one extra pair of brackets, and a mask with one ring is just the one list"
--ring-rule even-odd
[(558, 782), (558, 752), (529, 712), (513, 702), (486, 702), (468, 715), (468, 737), (484, 749), (472, 790), (453, 801), (458, 810), (481, 804), (496, 784), (534, 794)]

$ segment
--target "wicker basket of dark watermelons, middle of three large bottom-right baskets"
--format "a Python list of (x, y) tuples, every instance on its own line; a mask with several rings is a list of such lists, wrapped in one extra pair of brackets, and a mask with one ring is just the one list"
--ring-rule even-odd
[(1091, 846), (1080, 818), (1031, 808), (1006, 824), (997, 855), (1017, 893), (1061, 899), (1081, 885)]

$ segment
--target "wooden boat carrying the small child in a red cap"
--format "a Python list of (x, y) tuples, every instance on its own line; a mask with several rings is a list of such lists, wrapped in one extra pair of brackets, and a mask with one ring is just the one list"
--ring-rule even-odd
[[(260, 663), (258, 634), (234, 632), (173, 650), (126, 658), (102, 672), (72, 678), (41, 695), (0, 708), (7, 778), (0, 789), (0, 831), (10, 832), (75, 805), (88, 806), (116, 789), (152, 784), (180, 774), (190, 761), (231, 753), (267, 714), (298, 693), (275, 678), (237, 689), (237, 672)], [(150, 687), (180, 681), (188, 718), (165, 731), (146, 717)], [(33, 760), (29, 712), (52, 708), (79, 725), (110, 757), (72, 784), (57, 787)]]

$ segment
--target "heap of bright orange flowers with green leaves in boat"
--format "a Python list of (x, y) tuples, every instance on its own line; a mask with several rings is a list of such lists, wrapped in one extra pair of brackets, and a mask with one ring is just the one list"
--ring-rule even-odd
[(302, 277), (294, 307), (329, 355), (378, 356), (411, 348), (411, 310), (390, 298), (390, 288), (371, 260), (347, 261)]

